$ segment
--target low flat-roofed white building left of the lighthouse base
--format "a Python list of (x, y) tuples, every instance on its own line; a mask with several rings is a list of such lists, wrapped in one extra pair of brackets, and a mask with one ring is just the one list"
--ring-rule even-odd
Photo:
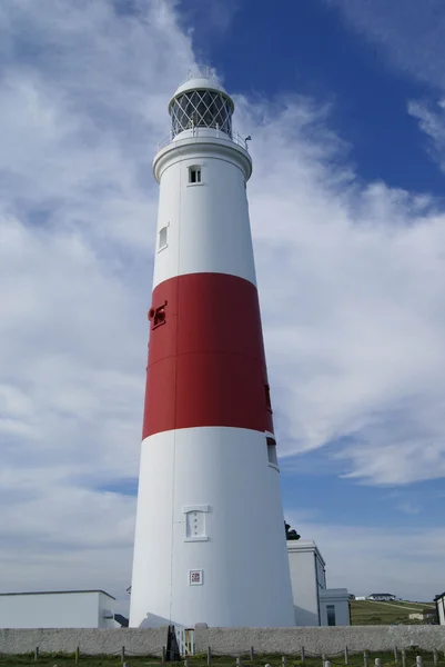
[(117, 628), (103, 590), (0, 594), (0, 628)]

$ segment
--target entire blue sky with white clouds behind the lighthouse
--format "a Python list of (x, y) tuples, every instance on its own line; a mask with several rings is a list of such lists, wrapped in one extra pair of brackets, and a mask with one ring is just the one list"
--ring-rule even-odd
[(442, 0), (2, 0), (0, 590), (131, 581), (166, 104), (252, 136), (287, 519), (330, 586), (445, 588)]

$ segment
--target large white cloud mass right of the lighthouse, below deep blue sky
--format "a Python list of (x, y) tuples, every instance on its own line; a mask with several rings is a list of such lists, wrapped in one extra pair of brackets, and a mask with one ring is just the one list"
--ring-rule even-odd
[(304, 109), (294, 100), (275, 110), (252, 142), (251, 213), (281, 452), (347, 436), (333, 455), (348, 476), (442, 477), (444, 213), (427, 196), (361, 187), (338, 167), (335, 138)]

